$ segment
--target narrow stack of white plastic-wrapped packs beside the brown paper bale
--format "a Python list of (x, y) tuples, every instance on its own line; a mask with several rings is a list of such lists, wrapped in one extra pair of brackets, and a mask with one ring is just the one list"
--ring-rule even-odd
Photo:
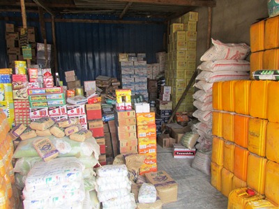
[(125, 164), (105, 165), (96, 169), (96, 191), (103, 209), (135, 209), (135, 196), (131, 193), (132, 182), (128, 179)]

